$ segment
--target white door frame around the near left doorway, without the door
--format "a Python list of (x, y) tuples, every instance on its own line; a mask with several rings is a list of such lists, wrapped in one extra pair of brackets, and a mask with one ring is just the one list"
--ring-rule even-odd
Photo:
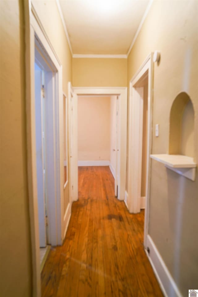
[[(63, 238), (63, 188), (64, 176), (63, 162), (63, 101), (62, 101), (62, 65), (56, 55), (49, 38), (41, 24), (38, 15), (30, 0), (24, 0), (25, 11), (25, 67), (26, 67), (26, 131), (27, 131), (27, 175), (28, 175), (28, 199), (32, 249), (32, 296), (41, 296), (40, 281), (40, 255), (39, 255), (39, 227), (38, 227), (38, 201), (37, 201), (37, 168), (36, 168), (36, 134), (35, 134), (35, 90), (34, 90), (34, 62), (35, 62), (35, 38), (41, 42), (47, 55), (46, 59), (53, 63), (56, 71), (53, 74), (53, 107), (52, 120), (53, 133), (50, 141), (53, 145), (53, 178), (54, 195), (50, 195), (49, 207), (49, 233), (52, 245), (62, 244)], [(48, 90), (47, 90), (48, 92)]]

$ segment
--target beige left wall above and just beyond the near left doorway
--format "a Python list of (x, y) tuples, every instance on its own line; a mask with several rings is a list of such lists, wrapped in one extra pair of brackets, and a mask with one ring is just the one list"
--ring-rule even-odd
[[(72, 56), (58, 12), (56, 1), (32, 0), (32, 4), (62, 64), (62, 89), (67, 95), (68, 81), (72, 81)], [(69, 202), (69, 184), (64, 189), (64, 209)]]

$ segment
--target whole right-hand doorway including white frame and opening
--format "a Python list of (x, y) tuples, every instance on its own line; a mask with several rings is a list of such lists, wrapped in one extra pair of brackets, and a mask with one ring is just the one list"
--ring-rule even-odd
[(144, 246), (149, 224), (149, 176), (152, 148), (153, 54), (130, 81), (126, 204), (131, 213), (145, 209)]

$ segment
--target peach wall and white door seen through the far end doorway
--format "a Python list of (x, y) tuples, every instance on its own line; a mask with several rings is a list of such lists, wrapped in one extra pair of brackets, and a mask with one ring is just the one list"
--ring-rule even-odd
[(119, 180), (119, 96), (78, 96), (78, 166), (109, 166)]

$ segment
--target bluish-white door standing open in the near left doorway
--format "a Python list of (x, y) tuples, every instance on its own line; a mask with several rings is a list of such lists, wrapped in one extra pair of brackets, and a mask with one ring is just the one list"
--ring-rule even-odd
[(39, 217), (40, 247), (46, 246), (45, 227), (45, 171), (44, 171), (44, 125), (43, 125), (42, 71), (35, 63), (35, 117), (36, 117), (36, 158), (37, 158), (37, 199)]

